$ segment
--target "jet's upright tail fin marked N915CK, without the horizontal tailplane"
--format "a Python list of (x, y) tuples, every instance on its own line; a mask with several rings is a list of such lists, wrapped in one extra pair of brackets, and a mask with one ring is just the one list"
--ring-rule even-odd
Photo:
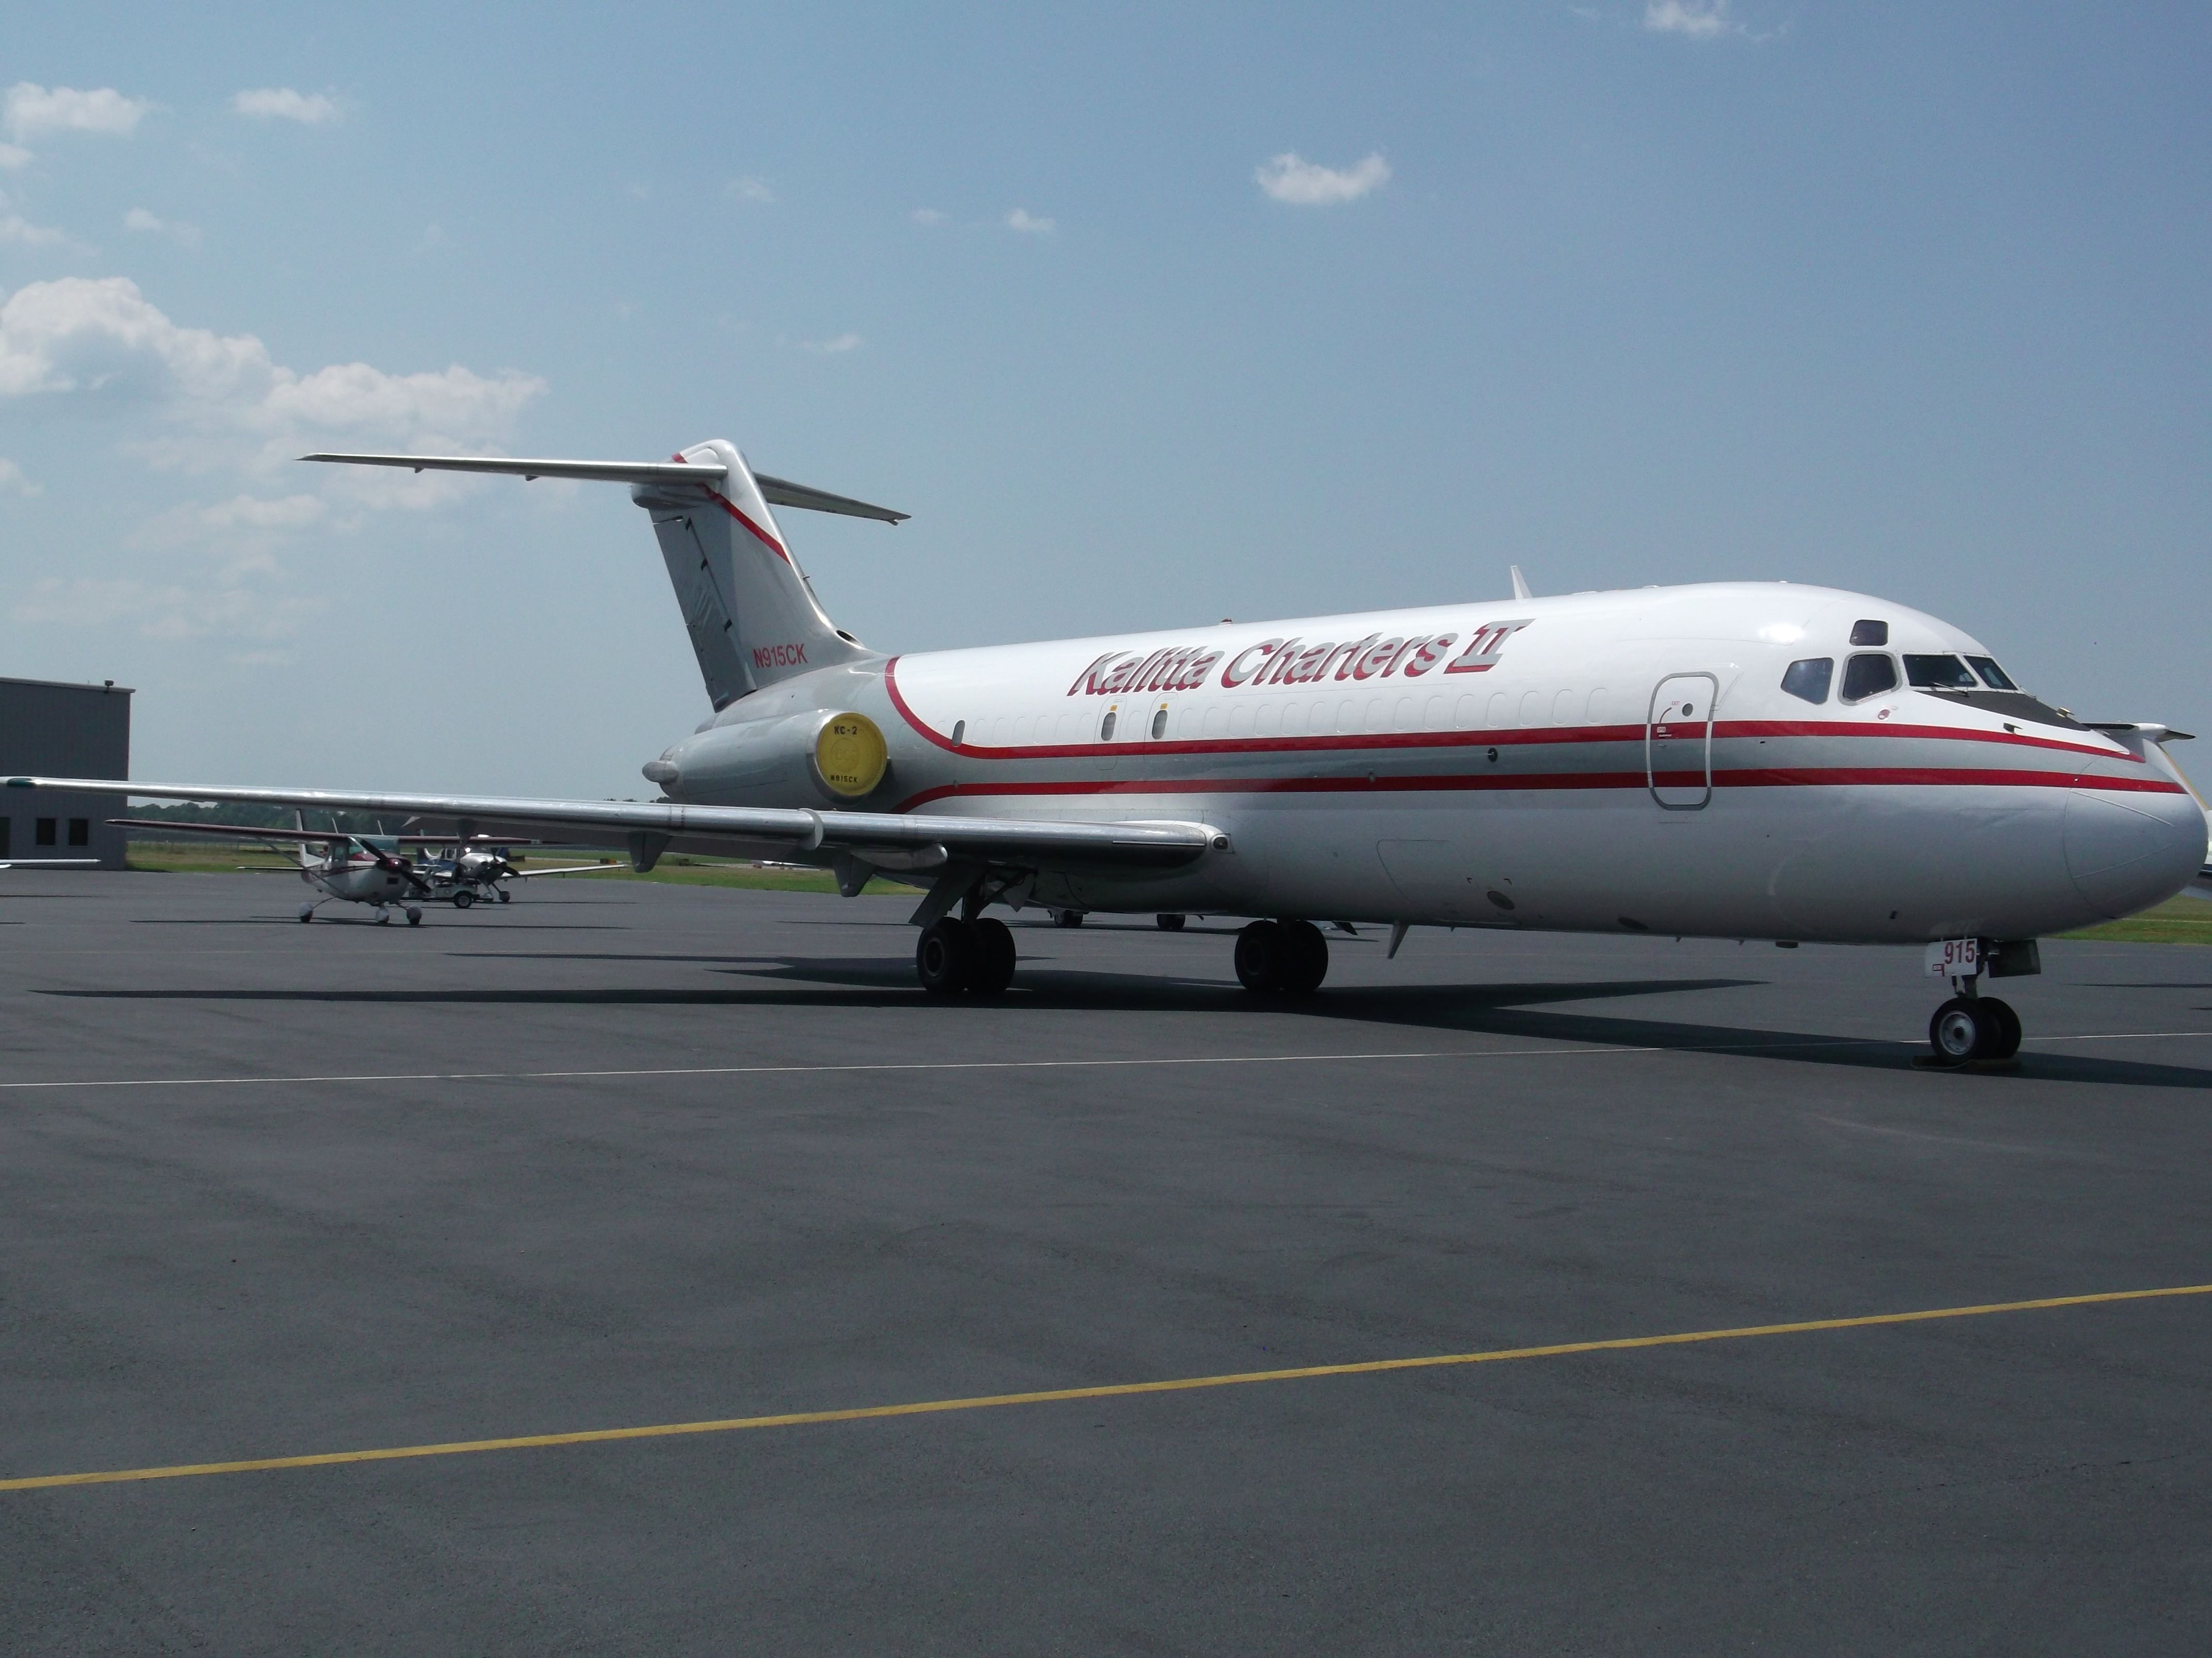
[(721, 710), (761, 685), (863, 657), (823, 615), (737, 447), (717, 438), (677, 460), (699, 466), (701, 482), (653, 480), (630, 500), (653, 513), (708, 701)]

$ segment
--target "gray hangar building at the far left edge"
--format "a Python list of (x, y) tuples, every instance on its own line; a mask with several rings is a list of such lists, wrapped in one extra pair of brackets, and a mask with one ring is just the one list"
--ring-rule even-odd
[[(131, 692), (53, 679), (0, 679), (0, 776), (131, 776)], [(0, 789), (0, 860), (97, 858), (124, 867), (124, 802), (100, 794)]]

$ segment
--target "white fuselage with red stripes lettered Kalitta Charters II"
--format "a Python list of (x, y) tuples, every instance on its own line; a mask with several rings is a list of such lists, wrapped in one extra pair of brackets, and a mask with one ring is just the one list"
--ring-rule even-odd
[[(1882, 641), (1854, 646), (1869, 621)], [(1971, 674), (1909, 683), (1989, 654), (1790, 584), (1221, 623), (801, 674), (659, 767), (670, 800), (821, 809), (745, 738), (849, 707), (889, 767), (845, 805), (1228, 833), (1181, 871), (1024, 893), (1099, 911), (1902, 944), (2037, 937), (2185, 886), (2205, 818), (2157, 743)], [(1854, 657), (1896, 685), (1847, 701), (1882, 676)], [(1783, 688), (1820, 659), (1818, 699)]]

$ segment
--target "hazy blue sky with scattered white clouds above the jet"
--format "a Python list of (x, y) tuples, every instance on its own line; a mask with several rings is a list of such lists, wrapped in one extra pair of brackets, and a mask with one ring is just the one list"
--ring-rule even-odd
[(137, 685), (139, 776), (646, 794), (706, 701), (624, 491), (285, 458), (726, 436), (914, 513), (785, 513), (887, 650), (1829, 581), (2212, 736), (2208, 71), (2203, 7), (22, 9), (0, 672)]

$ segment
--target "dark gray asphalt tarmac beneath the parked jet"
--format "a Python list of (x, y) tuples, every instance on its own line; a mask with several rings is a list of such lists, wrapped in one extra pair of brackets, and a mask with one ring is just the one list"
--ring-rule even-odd
[(1265, 1006), (1230, 924), (1018, 922), (940, 1004), (898, 898), (296, 902), (0, 873), (0, 1479), (586, 1437), (4, 1488), (13, 1651), (2212, 1627), (2212, 1295), (1767, 1329), (2212, 1282), (2205, 953), (2046, 944), (2022, 1068), (1931, 1074), (1887, 951), (1338, 937)]

